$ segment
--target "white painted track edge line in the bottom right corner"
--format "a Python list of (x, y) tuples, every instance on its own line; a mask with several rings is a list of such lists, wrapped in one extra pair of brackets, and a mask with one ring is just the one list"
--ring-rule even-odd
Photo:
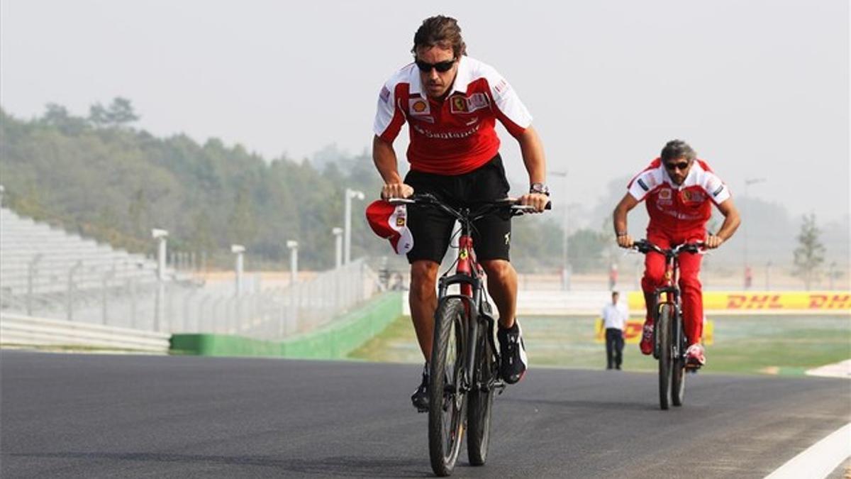
[(845, 424), (807, 450), (790, 459), (765, 479), (827, 477), (842, 461), (851, 456), (851, 423)]

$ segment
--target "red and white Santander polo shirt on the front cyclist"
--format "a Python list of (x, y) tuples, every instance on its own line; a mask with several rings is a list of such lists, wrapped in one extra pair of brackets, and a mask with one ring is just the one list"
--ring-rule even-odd
[(532, 123), (517, 93), (494, 67), (462, 55), (444, 101), (426, 95), (416, 64), (393, 75), (381, 89), (373, 130), (392, 142), (407, 121), (411, 169), (460, 175), (488, 163), (499, 151), (497, 118), (511, 136)]

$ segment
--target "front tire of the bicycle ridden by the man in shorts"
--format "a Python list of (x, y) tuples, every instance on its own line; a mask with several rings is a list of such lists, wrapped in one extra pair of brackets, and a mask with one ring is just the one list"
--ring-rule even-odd
[(464, 304), (458, 298), (437, 305), (429, 378), (428, 444), (431, 470), (449, 476), (464, 436), (466, 395), (460, 389), (466, 350)]

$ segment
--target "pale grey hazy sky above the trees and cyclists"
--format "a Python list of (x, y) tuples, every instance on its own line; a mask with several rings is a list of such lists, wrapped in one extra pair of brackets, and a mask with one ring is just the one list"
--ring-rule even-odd
[[(270, 159), (332, 142), (359, 153), (381, 84), (439, 13), (513, 84), (551, 170), (571, 175), (571, 202), (590, 207), (683, 138), (734, 194), (765, 177), (752, 196), (848, 215), (848, 0), (3, 0), (0, 106), (85, 115), (121, 95), (160, 136), (218, 136)], [(516, 142), (500, 136), (525, 182)], [(563, 198), (562, 180), (550, 183)]]

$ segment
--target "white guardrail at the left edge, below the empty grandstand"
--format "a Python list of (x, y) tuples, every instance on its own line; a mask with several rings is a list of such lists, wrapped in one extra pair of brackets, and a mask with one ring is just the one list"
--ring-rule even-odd
[(167, 353), (171, 335), (85, 322), (0, 315), (0, 345), (129, 349)]

